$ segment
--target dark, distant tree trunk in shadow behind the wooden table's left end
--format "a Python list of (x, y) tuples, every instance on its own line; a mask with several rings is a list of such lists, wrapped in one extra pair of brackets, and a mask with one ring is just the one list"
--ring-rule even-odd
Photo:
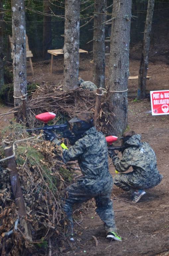
[[(50, 15), (50, 1), (43, 1), (43, 12)], [(47, 50), (51, 49), (52, 43), (52, 27), (51, 27), (51, 16), (43, 15), (43, 58), (47, 58)]]

